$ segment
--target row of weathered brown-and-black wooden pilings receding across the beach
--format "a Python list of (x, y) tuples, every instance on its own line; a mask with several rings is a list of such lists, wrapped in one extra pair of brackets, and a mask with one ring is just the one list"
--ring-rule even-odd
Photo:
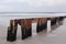
[(15, 19), (10, 20), (10, 26), (8, 26), (7, 41), (13, 42), (16, 40), (18, 24), (21, 25), (22, 40), (32, 36), (32, 21), (37, 23), (36, 32), (41, 32), (47, 28), (47, 20), (51, 20), (51, 25), (56, 24), (57, 21), (62, 21), (64, 18), (38, 18), (38, 19)]

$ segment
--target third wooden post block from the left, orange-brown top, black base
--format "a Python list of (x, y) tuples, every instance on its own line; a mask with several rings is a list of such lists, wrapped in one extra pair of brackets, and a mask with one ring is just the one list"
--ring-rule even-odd
[(45, 18), (41, 18), (37, 20), (37, 26), (36, 26), (37, 33), (43, 31), (44, 29), (46, 29), (46, 25), (47, 25), (46, 22), (47, 22), (47, 19), (45, 19)]

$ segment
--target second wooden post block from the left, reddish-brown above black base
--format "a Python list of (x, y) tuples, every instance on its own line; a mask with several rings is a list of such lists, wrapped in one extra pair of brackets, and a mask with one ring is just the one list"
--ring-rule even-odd
[(21, 20), (22, 40), (32, 35), (32, 25), (30, 19)]

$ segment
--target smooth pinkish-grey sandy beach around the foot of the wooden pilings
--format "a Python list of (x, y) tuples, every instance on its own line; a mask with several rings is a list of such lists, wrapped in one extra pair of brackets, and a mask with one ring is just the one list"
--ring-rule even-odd
[[(26, 40), (21, 40), (21, 29), (19, 25), (15, 42), (7, 42), (8, 21), (8, 18), (6, 20), (3, 18), (0, 19), (0, 44), (66, 44), (66, 19), (63, 25), (53, 30), (51, 33), (47, 34), (46, 31), (42, 31)], [(35, 29), (34, 26), (33, 24), (33, 29)]]

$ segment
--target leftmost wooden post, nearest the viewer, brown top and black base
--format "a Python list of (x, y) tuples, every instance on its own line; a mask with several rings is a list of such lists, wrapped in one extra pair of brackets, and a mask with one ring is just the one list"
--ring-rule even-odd
[(18, 23), (15, 20), (10, 20), (10, 26), (8, 28), (7, 41), (13, 42), (16, 40)]

